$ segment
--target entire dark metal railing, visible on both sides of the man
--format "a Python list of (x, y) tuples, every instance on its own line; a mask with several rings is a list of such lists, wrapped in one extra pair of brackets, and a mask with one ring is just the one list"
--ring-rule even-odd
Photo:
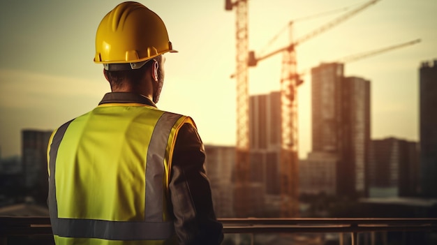
[[(219, 221), (225, 234), (253, 237), (269, 233), (339, 233), (350, 234), (353, 245), (363, 232), (437, 232), (437, 218), (219, 218)], [(0, 244), (7, 245), (14, 237), (30, 237), (50, 244), (50, 218), (0, 216)]]

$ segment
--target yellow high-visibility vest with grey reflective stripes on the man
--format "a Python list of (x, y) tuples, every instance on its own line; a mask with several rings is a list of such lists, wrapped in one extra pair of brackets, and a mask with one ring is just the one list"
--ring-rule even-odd
[(108, 103), (59, 127), (47, 149), (57, 244), (175, 241), (168, 185), (179, 128), (190, 117)]

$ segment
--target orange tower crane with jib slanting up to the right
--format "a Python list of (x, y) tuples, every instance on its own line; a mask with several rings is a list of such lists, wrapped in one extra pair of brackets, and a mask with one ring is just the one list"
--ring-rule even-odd
[(378, 1), (380, 0), (367, 1), (297, 39), (292, 38), (293, 22), (289, 22), (290, 44), (262, 57), (256, 57), (253, 51), (249, 52), (249, 66), (256, 66), (259, 61), (275, 54), (283, 54), (281, 69), (281, 153), (279, 160), (281, 166), (281, 177), (279, 179), (281, 185), (281, 216), (283, 217), (296, 217), (298, 215), (297, 87), (302, 84), (302, 80), (299, 79), (297, 74), (295, 47), (348, 20)]

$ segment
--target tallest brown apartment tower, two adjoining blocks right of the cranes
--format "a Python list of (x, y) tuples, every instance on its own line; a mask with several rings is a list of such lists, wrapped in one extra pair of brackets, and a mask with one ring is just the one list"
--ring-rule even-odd
[(343, 64), (311, 69), (312, 151), (336, 156), (336, 195), (365, 196), (370, 147), (370, 82), (344, 77)]

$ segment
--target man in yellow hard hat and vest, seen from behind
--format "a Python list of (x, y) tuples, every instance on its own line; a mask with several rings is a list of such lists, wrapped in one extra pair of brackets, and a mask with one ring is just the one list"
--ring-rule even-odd
[(205, 150), (193, 119), (158, 110), (161, 18), (120, 3), (98, 26), (94, 62), (111, 92), (52, 133), (47, 149), (56, 244), (220, 244)]

